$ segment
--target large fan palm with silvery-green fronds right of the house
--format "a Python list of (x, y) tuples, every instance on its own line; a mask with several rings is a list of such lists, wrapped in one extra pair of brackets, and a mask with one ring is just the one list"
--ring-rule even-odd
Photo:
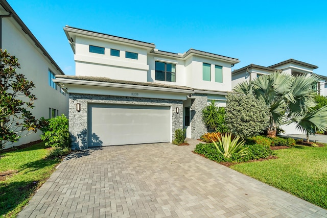
[(256, 99), (265, 102), (270, 113), (267, 135), (275, 136), (278, 126), (305, 117), (316, 106), (313, 99), (316, 91), (312, 87), (318, 81), (319, 77), (316, 75), (291, 76), (274, 72), (251, 82), (243, 82), (233, 90), (254, 95)]

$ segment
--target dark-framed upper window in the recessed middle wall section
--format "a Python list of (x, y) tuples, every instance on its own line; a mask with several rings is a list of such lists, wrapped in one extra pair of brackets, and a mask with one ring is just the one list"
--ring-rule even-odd
[(176, 64), (156, 61), (155, 80), (176, 82)]

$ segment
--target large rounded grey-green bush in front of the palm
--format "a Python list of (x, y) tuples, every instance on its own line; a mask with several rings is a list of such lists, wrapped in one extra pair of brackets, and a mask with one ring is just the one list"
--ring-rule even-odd
[(242, 138), (259, 135), (269, 125), (267, 105), (253, 95), (228, 93), (226, 96), (226, 125)]

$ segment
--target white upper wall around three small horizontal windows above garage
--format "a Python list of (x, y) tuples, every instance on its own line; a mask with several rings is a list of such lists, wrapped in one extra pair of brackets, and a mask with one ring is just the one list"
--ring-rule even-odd
[[(147, 50), (133, 45), (76, 36), (76, 76), (107, 77), (115, 80), (147, 82)], [(105, 48), (105, 54), (89, 52), (89, 45)], [(120, 50), (120, 57), (110, 55)], [(125, 58), (125, 52), (138, 54), (138, 59)]]

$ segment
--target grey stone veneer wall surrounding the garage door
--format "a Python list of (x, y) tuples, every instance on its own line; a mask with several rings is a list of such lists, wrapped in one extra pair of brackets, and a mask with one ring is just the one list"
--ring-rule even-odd
[[(81, 104), (81, 111), (76, 110), (76, 104)], [(69, 94), (69, 132), (72, 138), (72, 149), (82, 150), (87, 148), (87, 104), (129, 104), (129, 105), (158, 105), (171, 106), (172, 112), (172, 139), (175, 130), (183, 128), (183, 101), (166, 99), (133, 98), (127, 96), (110, 96), (94, 94)], [(179, 113), (176, 113), (179, 107)]]

